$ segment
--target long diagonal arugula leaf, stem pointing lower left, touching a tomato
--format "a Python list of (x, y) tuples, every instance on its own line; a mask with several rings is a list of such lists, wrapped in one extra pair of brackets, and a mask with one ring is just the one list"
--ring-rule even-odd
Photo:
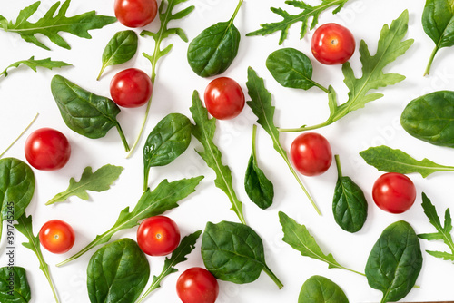
[(95, 246), (108, 242), (117, 231), (132, 229), (139, 225), (140, 220), (163, 214), (163, 212), (167, 210), (178, 207), (177, 202), (194, 192), (195, 187), (202, 179), (203, 176), (200, 176), (170, 183), (167, 180), (163, 180), (153, 191), (144, 191), (141, 199), (137, 202), (132, 211), (129, 210), (129, 207), (122, 210), (111, 229), (96, 236), (96, 238), (84, 249), (81, 249), (69, 259), (65, 259), (63, 262), (58, 263), (57, 266), (64, 265), (77, 259)]

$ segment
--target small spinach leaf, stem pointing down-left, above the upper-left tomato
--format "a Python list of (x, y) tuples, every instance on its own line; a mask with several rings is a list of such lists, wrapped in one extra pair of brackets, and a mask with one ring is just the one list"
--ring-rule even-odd
[(114, 34), (103, 52), (103, 65), (96, 80), (101, 78), (107, 66), (124, 64), (131, 60), (137, 53), (139, 38), (133, 30), (122, 31)]

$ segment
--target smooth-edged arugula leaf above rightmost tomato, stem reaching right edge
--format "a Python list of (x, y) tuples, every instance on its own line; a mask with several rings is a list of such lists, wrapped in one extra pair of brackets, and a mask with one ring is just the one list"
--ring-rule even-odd
[(393, 150), (385, 145), (370, 147), (360, 152), (360, 156), (379, 171), (403, 174), (418, 172), (423, 178), (436, 171), (454, 171), (453, 166), (440, 165), (427, 158), (418, 161), (406, 152)]

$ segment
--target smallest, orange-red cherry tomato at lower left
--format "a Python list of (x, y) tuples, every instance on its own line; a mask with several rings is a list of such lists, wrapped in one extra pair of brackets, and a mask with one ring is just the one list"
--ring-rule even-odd
[(50, 220), (39, 230), (39, 241), (44, 249), (64, 253), (74, 245), (74, 230), (63, 220)]

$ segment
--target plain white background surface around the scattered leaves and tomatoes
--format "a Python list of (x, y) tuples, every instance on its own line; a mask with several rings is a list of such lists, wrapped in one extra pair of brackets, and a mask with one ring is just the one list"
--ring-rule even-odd
[[(159, 1), (158, 1), (159, 2)], [(0, 15), (7, 19), (15, 19), (20, 9), (31, 5), (33, 1), (16, 0), (0, 5)], [(44, 0), (37, 16), (44, 12), (54, 1)], [(313, 5), (319, 1), (311, 1)], [(222, 0), (190, 0), (180, 6), (194, 5), (196, 9), (191, 15), (174, 22), (173, 26), (184, 29), (188, 38), (192, 40), (202, 29), (220, 21), (226, 21), (232, 15), (237, 1)], [(259, 28), (259, 24), (281, 20), (281, 17), (270, 11), (271, 6), (281, 6), (291, 12), (298, 12), (285, 5), (283, 1), (276, 3), (271, 0), (246, 0), (235, 20), (235, 24), (242, 33), (240, 51), (225, 76), (232, 77), (241, 83), (243, 91), (247, 93), (247, 67), (252, 66), (259, 76), (265, 80), (265, 85), (272, 93), (273, 104), (276, 106), (275, 123), (282, 127), (297, 127), (301, 124), (316, 124), (326, 120), (329, 114), (327, 97), (316, 88), (305, 92), (281, 87), (271, 77), (265, 67), (265, 60), (272, 51), (280, 47), (295, 47), (308, 54), (314, 66), (313, 78), (324, 86), (331, 84), (339, 95), (339, 102), (347, 100), (346, 87), (342, 82), (341, 66), (324, 66), (313, 60), (310, 50), (311, 33), (302, 40), (299, 39), (300, 24), (293, 25), (288, 39), (283, 45), (278, 45), (279, 34), (266, 37), (245, 37), (244, 35)], [(317, 132), (323, 134), (330, 142), (333, 153), (341, 157), (344, 175), (356, 181), (366, 194), (369, 201), (369, 217), (363, 227), (356, 234), (341, 230), (332, 218), (331, 201), (334, 185), (337, 179), (335, 165), (319, 177), (302, 178), (311, 195), (321, 209), (322, 216), (318, 216), (311, 207), (309, 200), (304, 196), (301, 188), (294, 180), (281, 156), (272, 148), (272, 142), (266, 132), (259, 127), (257, 135), (258, 158), (262, 170), (269, 176), (275, 186), (274, 203), (269, 210), (258, 209), (247, 197), (243, 189), (243, 176), (251, 152), (252, 123), (255, 117), (249, 107), (245, 107), (240, 116), (231, 121), (217, 122), (217, 137), (215, 143), (223, 153), (223, 161), (232, 169), (233, 187), (242, 200), (246, 220), (256, 230), (264, 241), (266, 259), (269, 267), (281, 279), (285, 287), (279, 290), (274, 283), (262, 273), (260, 279), (248, 285), (235, 285), (220, 281), (220, 303), (245, 302), (296, 302), (302, 283), (312, 275), (327, 277), (345, 291), (350, 302), (379, 302), (380, 291), (368, 286), (367, 280), (357, 274), (341, 269), (328, 269), (321, 261), (302, 257), (298, 251), (281, 241), (281, 225), (278, 220), (278, 211), (282, 210), (289, 216), (304, 224), (317, 239), (325, 253), (332, 253), (341, 265), (350, 269), (363, 271), (370, 249), (390, 223), (397, 220), (407, 220), (417, 233), (435, 231), (420, 206), (421, 192), (424, 191), (436, 205), (442, 216), (446, 208), (452, 205), (454, 174), (439, 172), (426, 179), (419, 174), (411, 174), (418, 197), (414, 206), (400, 215), (393, 215), (378, 209), (373, 203), (370, 190), (373, 182), (381, 172), (367, 165), (359, 155), (360, 151), (370, 146), (386, 144), (392, 148), (400, 148), (410, 153), (416, 159), (428, 157), (441, 164), (453, 165), (452, 150), (420, 142), (407, 134), (400, 126), (400, 113), (413, 98), (424, 93), (443, 89), (450, 89), (454, 83), (453, 55), (450, 49), (439, 51), (432, 73), (423, 77), (429, 54), (434, 46), (429, 37), (424, 34), (420, 22), (423, 10), (423, 1), (414, 0), (381, 0), (364, 1), (350, 0), (338, 15), (331, 15), (331, 11), (321, 15), (320, 24), (336, 22), (348, 26), (357, 41), (360, 40), (370, 47), (374, 54), (380, 30), (383, 24), (390, 24), (404, 9), (410, 12), (410, 26), (408, 38), (415, 39), (415, 43), (404, 56), (390, 64), (385, 72), (401, 73), (407, 79), (395, 86), (380, 89), (385, 96), (380, 100), (368, 103), (364, 109), (351, 112), (347, 117), (331, 126)], [(98, 14), (114, 15), (114, 1), (73, 1), (67, 15), (77, 15), (95, 10)], [(36, 20), (33, 17), (33, 20)], [(157, 20), (146, 27), (155, 31), (159, 27)], [(39, 118), (25, 136), (5, 154), (5, 157), (15, 157), (25, 161), (24, 142), (26, 135), (41, 127), (52, 127), (68, 137), (72, 145), (72, 156), (68, 164), (60, 171), (35, 171), (35, 196), (27, 214), (33, 215), (34, 230), (38, 232), (47, 220), (61, 219), (70, 223), (76, 232), (74, 248), (64, 255), (54, 255), (43, 249), (44, 258), (50, 265), (59, 296), (64, 303), (88, 302), (86, 290), (86, 267), (88, 260), (95, 249), (89, 251), (82, 258), (74, 260), (62, 268), (54, 264), (72, 256), (79, 249), (84, 248), (95, 235), (103, 233), (113, 226), (118, 214), (123, 208), (133, 208), (140, 198), (143, 188), (143, 161), (142, 149), (139, 148), (132, 159), (125, 159), (123, 145), (115, 130), (99, 140), (90, 140), (69, 130), (64, 124), (50, 91), (50, 80), (55, 73), (59, 73), (79, 84), (83, 88), (97, 94), (109, 96), (109, 82), (114, 73), (128, 67), (138, 67), (146, 73), (151, 72), (151, 64), (143, 57), (142, 52), (153, 52), (153, 39), (140, 38), (139, 51), (133, 60), (127, 64), (109, 67), (101, 81), (96, 82), (96, 76), (101, 68), (101, 55), (105, 44), (117, 31), (126, 28), (119, 23), (111, 24), (103, 29), (90, 33), (93, 39), (81, 39), (71, 34), (62, 34), (71, 44), (71, 50), (64, 50), (51, 44), (47, 38), (40, 36), (44, 44), (52, 48), (51, 52), (44, 51), (34, 44), (25, 43), (18, 35), (0, 32), (0, 69), (7, 65), (35, 55), (36, 59), (52, 57), (53, 60), (63, 60), (74, 66), (53, 71), (39, 69), (38, 73), (21, 67), (10, 70), (7, 78), (0, 78), (0, 151), (12, 142), (25, 125), (31, 121), (36, 112)], [(140, 33), (140, 29), (135, 30)], [(203, 92), (211, 79), (202, 79), (192, 72), (187, 64), (186, 51), (188, 44), (179, 37), (172, 36), (164, 41), (163, 46), (173, 43), (170, 54), (159, 63), (158, 76), (154, 87), (153, 105), (150, 120), (145, 135), (153, 126), (169, 112), (181, 112), (191, 117), (189, 107), (193, 90)], [(358, 52), (350, 60), (356, 75), (360, 76), (360, 60)], [(246, 94), (247, 96), (247, 94)], [(249, 97), (247, 96), (247, 99)], [(125, 109), (119, 115), (119, 121), (129, 142), (133, 142), (143, 120), (144, 107)], [(282, 133), (281, 143), (287, 150), (297, 133)], [(236, 215), (229, 210), (231, 204), (225, 194), (213, 184), (214, 173), (202, 159), (194, 152), (199, 144), (192, 141), (190, 148), (179, 159), (166, 167), (153, 168), (150, 172), (150, 187), (153, 189), (160, 181), (167, 178), (176, 180), (204, 175), (205, 178), (188, 199), (181, 202), (181, 206), (171, 210), (166, 215), (175, 220), (183, 235), (195, 230), (203, 230), (207, 221), (221, 220), (238, 221)], [(120, 179), (114, 183), (109, 191), (90, 192), (88, 201), (78, 198), (45, 206), (44, 203), (54, 197), (54, 194), (66, 189), (71, 177), (78, 180), (86, 166), (94, 170), (111, 163), (121, 165), (124, 171)], [(114, 239), (135, 237), (135, 229), (124, 230)], [(20, 242), (25, 238), (16, 232), (15, 263), (27, 269), (27, 275), (33, 291), (32, 302), (53, 302), (53, 296), (43, 273), (38, 269), (35, 255)], [(5, 231), (4, 231), (5, 238)], [(421, 240), (421, 249), (446, 250), (441, 242)], [(1, 245), (5, 251), (5, 243)], [(452, 276), (454, 265), (449, 261), (435, 259), (423, 253), (424, 264), (417, 280), (420, 288), (414, 288), (405, 301), (449, 300), (454, 298)], [(152, 274), (161, 272), (163, 258), (149, 258)], [(5, 253), (0, 256), (0, 265), (5, 266)], [(189, 256), (189, 260), (178, 265), (179, 272), (184, 269), (202, 266), (200, 256), (200, 239), (196, 249)], [(173, 274), (163, 280), (162, 288), (153, 292), (150, 302), (179, 302), (175, 293), (175, 282), (179, 274)]]

